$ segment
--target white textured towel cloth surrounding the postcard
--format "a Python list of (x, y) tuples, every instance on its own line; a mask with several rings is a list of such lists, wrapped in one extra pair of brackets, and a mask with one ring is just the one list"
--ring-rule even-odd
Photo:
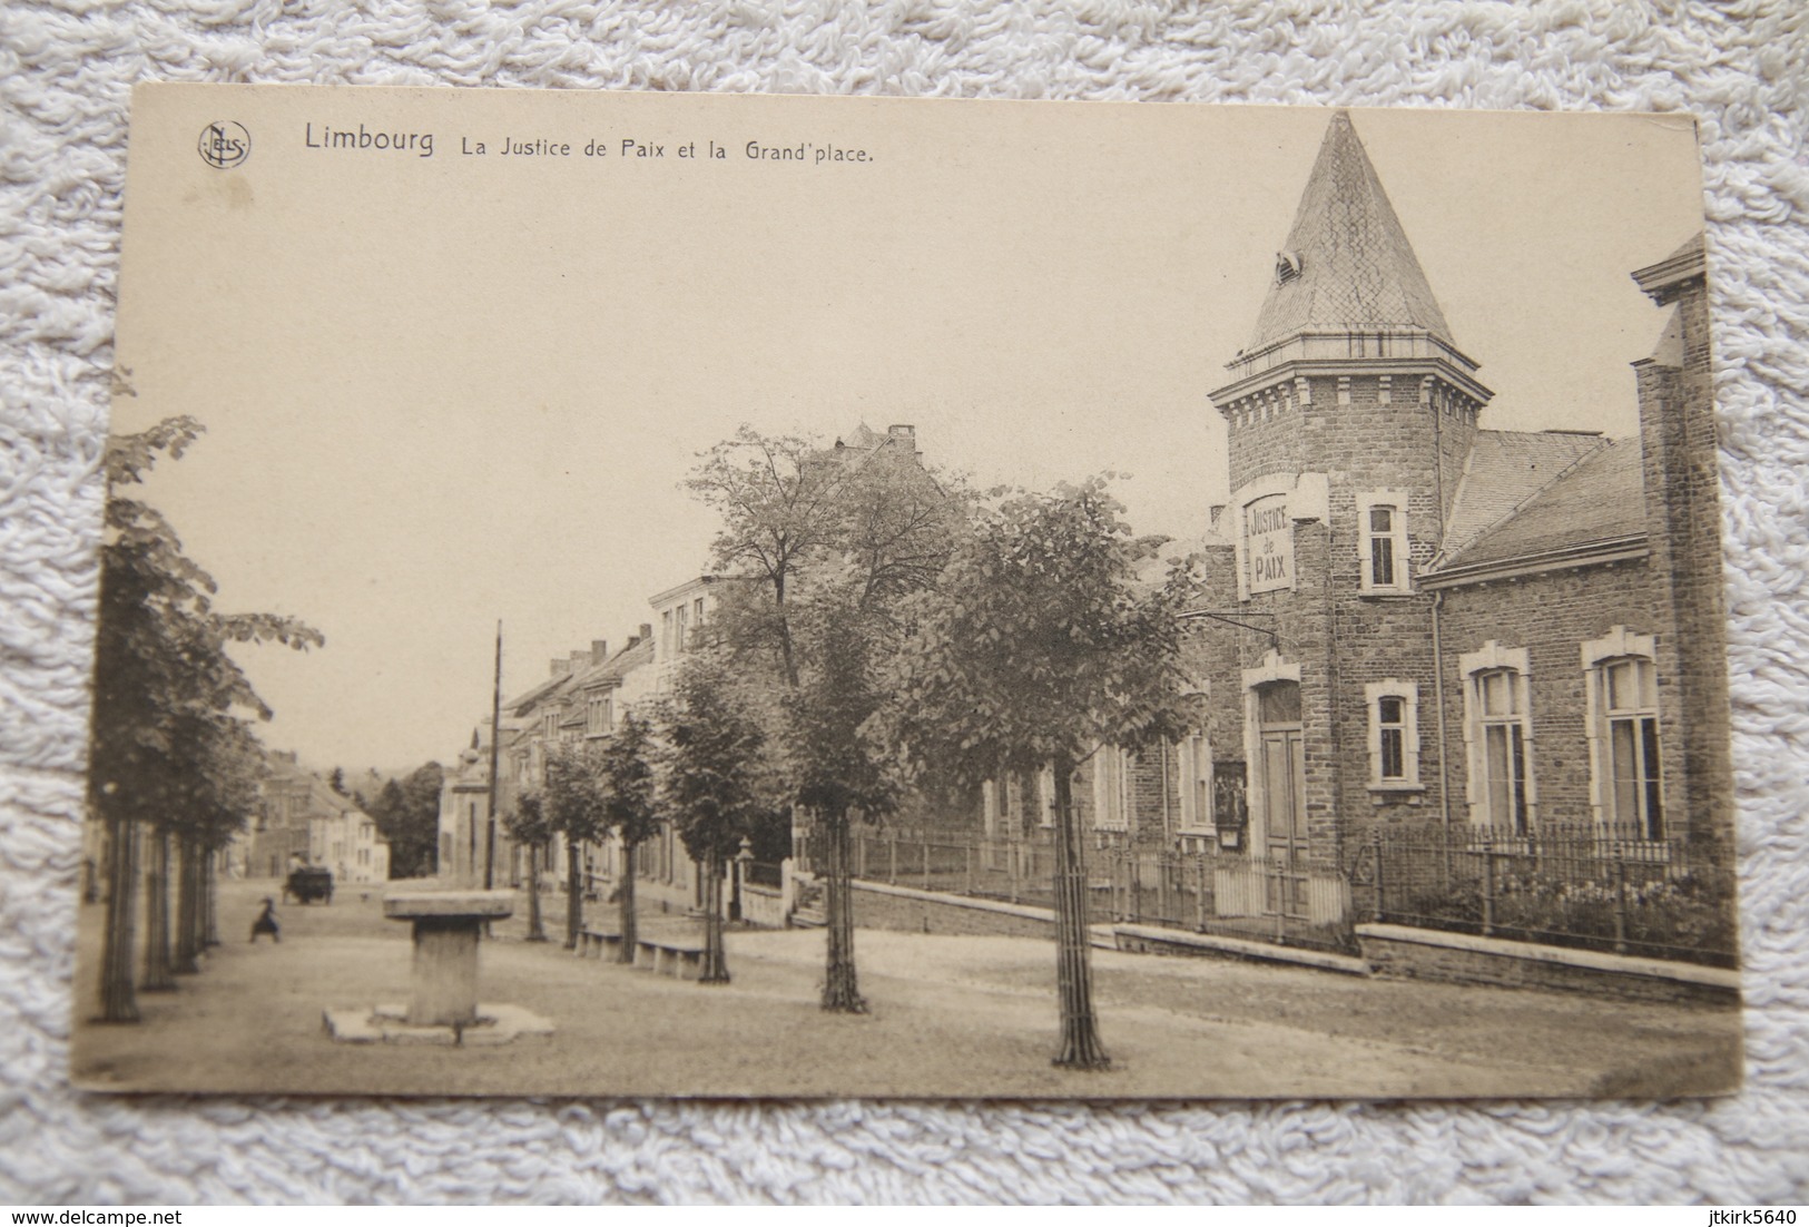
[[(1798, 0), (0, 7), (0, 1202), (1809, 1200), (1805, 14)], [(96, 460), (139, 80), (1693, 112), (1726, 423), (1746, 1093), (1482, 1108), (74, 1095)]]

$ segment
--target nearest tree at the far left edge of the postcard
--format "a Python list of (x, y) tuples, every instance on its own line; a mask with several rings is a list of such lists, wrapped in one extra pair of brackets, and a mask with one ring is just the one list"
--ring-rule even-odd
[[(250, 767), (246, 755), (230, 753), (242, 731), (232, 720), (241, 711), (266, 720), (271, 713), (228, 644), (326, 642), (289, 617), (217, 612), (213, 579), (183, 554), (168, 519), (121, 492), (143, 483), (159, 456), (181, 458), (201, 433), (194, 418), (170, 418), (107, 445), (89, 769), (89, 804), (110, 847), (99, 1013), (107, 1022), (139, 1017), (132, 946), (141, 823), (183, 831), (195, 813), (233, 827), (244, 822), (233, 807)], [(163, 883), (152, 878), (154, 896)], [(161, 907), (166, 914), (166, 899)], [(166, 943), (168, 927), (154, 936)]]

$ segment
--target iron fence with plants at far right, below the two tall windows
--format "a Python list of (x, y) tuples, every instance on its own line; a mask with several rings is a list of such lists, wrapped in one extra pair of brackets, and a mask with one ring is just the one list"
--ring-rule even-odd
[(1351, 860), (1377, 921), (1735, 966), (1733, 863), (1715, 842), (1541, 823), (1378, 827)]

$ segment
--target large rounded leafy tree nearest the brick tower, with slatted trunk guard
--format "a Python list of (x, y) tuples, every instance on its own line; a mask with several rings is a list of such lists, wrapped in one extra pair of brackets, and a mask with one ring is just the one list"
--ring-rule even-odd
[(1192, 579), (1145, 583), (1160, 537), (1136, 537), (1105, 478), (1020, 494), (984, 514), (910, 604), (886, 738), (923, 773), (968, 784), (1000, 769), (1055, 776), (1055, 914), (1062, 1046), (1055, 1064), (1105, 1068), (1093, 1012), (1087, 894), (1073, 775), (1105, 747), (1187, 726), (1181, 632)]

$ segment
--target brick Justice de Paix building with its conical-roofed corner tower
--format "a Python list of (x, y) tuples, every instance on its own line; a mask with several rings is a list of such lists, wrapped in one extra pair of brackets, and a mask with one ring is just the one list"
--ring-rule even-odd
[(1480, 364), (1331, 118), (1210, 393), (1232, 496), (1194, 635), (1207, 775), (1243, 782), (1270, 908), (1344, 916), (1391, 827), (1653, 858), (1731, 831), (1700, 235), (1634, 277), (1672, 308), (1634, 364), (1639, 436), (1482, 429)]

